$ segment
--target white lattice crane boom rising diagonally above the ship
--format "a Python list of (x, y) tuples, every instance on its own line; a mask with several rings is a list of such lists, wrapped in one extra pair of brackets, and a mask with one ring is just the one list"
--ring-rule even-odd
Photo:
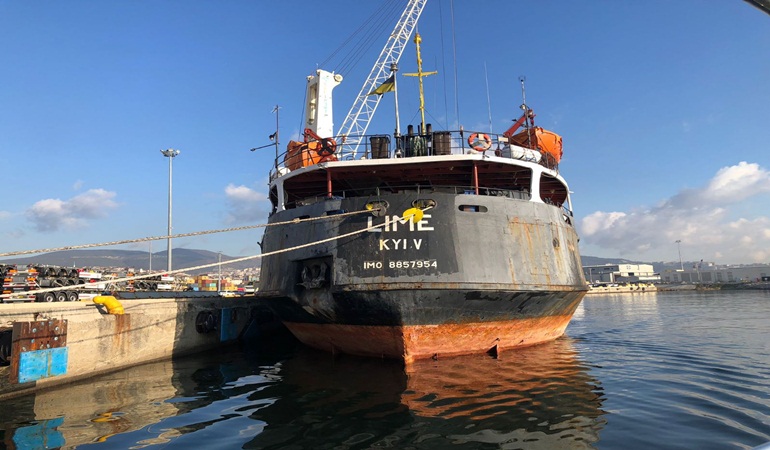
[(420, 14), (422, 14), (423, 8), (425, 8), (426, 2), (427, 0), (409, 0), (406, 9), (401, 14), (401, 18), (390, 34), (388, 42), (385, 44), (382, 52), (380, 52), (380, 56), (377, 58), (369, 76), (361, 87), (356, 101), (353, 102), (353, 106), (342, 122), (340, 131), (337, 134), (346, 136), (344, 145), (349, 146), (353, 153), (358, 148), (361, 136), (366, 134), (369, 122), (372, 120), (382, 97), (382, 95), (369, 95), (369, 93), (388, 78), (387, 68), (391, 67), (393, 63), (398, 63), (406, 43), (417, 26), (417, 21), (420, 18)]

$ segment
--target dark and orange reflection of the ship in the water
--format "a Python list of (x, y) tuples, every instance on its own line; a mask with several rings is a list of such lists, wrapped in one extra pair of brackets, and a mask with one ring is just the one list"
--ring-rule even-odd
[(504, 354), (388, 361), (303, 350), (282, 363), (247, 448), (591, 448), (602, 390), (569, 339)]

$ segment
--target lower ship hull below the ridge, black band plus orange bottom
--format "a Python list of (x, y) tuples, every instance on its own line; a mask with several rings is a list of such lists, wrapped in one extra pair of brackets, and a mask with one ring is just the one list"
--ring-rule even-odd
[(346, 292), (324, 320), (290, 299), (269, 302), (305, 345), (332, 353), (401, 359), (500, 355), (564, 333), (582, 293), (419, 289)]

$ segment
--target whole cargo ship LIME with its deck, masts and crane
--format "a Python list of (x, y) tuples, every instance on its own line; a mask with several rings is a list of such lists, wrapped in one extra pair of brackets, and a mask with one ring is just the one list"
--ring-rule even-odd
[(274, 135), (259, 296), (308, 346), (407, 364), (499, 356), (561, 336), (588, 289), (562, 138), (535, 126), (526, 101), (501, 133), (433, 130), (420, 83), (416, 127), (402, 134), (398, 114), (393, 134), (357, 126), (395, 90), (393, 48), (424, 4), (408, 2), (338, 133), (342, 76), (316, 70), (302, 140), (280, 153)]

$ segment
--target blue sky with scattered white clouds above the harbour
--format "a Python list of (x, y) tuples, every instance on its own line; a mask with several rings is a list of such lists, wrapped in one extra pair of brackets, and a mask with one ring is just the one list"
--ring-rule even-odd
[[(0, 252), (165, 235), (166, 148), (181, 151), (175, 233), (264, 223), (275, 155), (249, 149), (270, 143), (273, 107), (285, 143), (305, 76), (390, 3), (0, 0)], [(582, 254), (676, 261), (681, 240), (685, 260), (770, 262), (770, 16), (739, 0), (442, 0), (419, 31), (440, 72), (434, 129), (487, 130), (491, 110), (505, 130), (526, 77), (537, 124), (564, 137)], [(342, 73), (336, 126), (384, 43)], [(415, 85), (399, 79), (402, 126), (419, 121)], [(369, 131), (392, 110), (386, 96)], [(175, 247), (248, 256), (259, 237)]]

